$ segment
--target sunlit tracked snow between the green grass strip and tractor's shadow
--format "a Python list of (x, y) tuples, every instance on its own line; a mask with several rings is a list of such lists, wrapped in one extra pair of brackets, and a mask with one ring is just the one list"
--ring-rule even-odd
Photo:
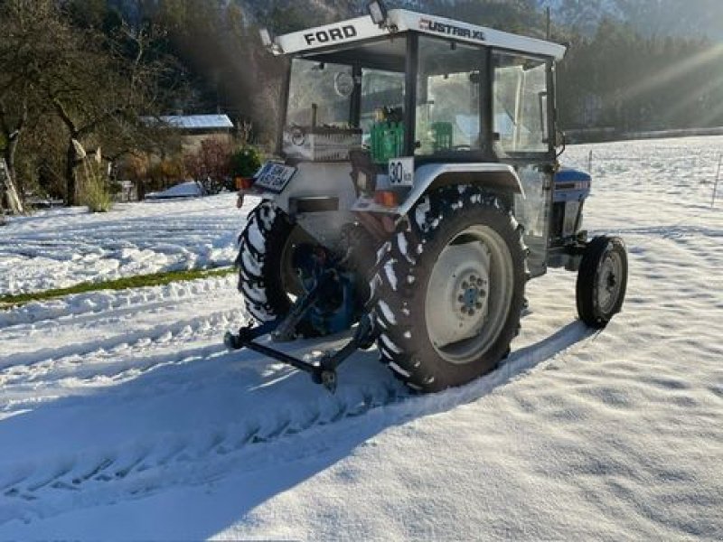
[[(119, 300), (113, 293), (96, 293), (96, 299), (104, 302), (97, 313), (80, 311), (80, 319), (43, 321), (48, 327), (41, 330), (34, 326), (32, 331), (0, 329), (4, 347), (0, 350), (18, 352), (0, 360), (0, 417), (58, 397), (83, 395), (84, 389), (113, 387), (165, 366), (223, 353), (221, 332), (248, 321), (240, 303), (235, 299), (229, 302), (230, 290), (230, 280), (212, 278), (183, 283), (182, 287), (122, 291)], [(149, 298), (153, 300), (150, 304)], [(78, 306), (72, 300), (63, 302)], [(62, 346), (32, 350), (32, 333), (51, 334)], [(15, 336), (18, 342), (14, 347)]]

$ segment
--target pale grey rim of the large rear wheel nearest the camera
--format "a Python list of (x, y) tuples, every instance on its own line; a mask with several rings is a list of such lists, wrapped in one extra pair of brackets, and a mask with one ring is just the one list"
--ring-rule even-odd
[(427, 334), (437, 354), (455, 365), (478, 360), (504, 328), (513, 285), (512, 255), (496, 231), (477, 225), (456, 234), (427, 285)]

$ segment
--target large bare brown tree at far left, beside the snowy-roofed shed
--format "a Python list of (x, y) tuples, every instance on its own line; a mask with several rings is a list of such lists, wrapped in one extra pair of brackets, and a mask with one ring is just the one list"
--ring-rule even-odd
[[(65, 199), (76, 204), (80, 157), (73, 141), (108, 149), (117, 157), (147, 145), (141, 115), (153, 114), (166, 93), (163, 55), (150, 55), (157, 27), (119, 24), (115, 32), (74, 23), (68, 3), (0, 2), (0, 135), (15, 179), (15, 154), (33, 116), (52, 115), (66, 132)], [(22, 187), (22, 184), (21, 184)]]

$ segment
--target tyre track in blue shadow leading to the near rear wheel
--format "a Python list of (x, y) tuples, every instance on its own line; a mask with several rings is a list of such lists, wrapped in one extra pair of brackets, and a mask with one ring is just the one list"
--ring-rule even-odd
[[(163, 435), (155, 443), (131, 444), (125, 449), (57, 458), (24, 472), (0, 474), (0, 524), (24, 515), (46, 517), (77, 504), (86, 493), (93, 504), (132, 498), (179, 483), (198, 484), (238, 467), (239, 453), (249, 446), (288, 442), (314, 427), (335, 425), (344, 418), (405, 400), (406, 390), (394, 382), (351, 389), (327, 396), (296, 420), (285, 417), (250, 418), (245, 424), (196, 435)], [(170, 444), (169, 444), (170, 443)], [(72, 499), (67, 496), (72, 494)], [(64, 501), (64, 503), (63, 503)], [(22, 504), (20, 504), (22, 503)]]

